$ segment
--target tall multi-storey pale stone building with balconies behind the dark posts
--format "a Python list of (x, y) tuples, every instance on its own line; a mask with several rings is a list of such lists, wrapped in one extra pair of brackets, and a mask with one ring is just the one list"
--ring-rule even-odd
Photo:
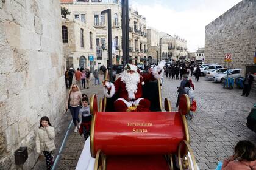
[[(61, 0), (62, 7), (68, 8), (69, 20), (76, 19), (84, 22), (88, 27), (94, 27), (96, 32), (96, 50), (102, 53), (102, 60), (108, 58), (108, 37), (107, 37), (107, 15), (101, 15), (106, 9), (111, 9), (112, 15), (112, 53), (113, 64), (121, 64), (122, 56), (122, 29), (121, 29), (121, 4), (116, 1), (79, 1), (79, 0)], [(146, 56), (146, 20), (138, 12), (129, 9), (130, 20), (130, 62), (140, 63)], [(135, 32), (136, 29), (136, 32)], [(136, 49), (137, 51), (136, 51)], [(105, 53), (105, 55), (104, 55)], [(98, 57), (97, 57), (98, 58)], [(97, 63), (100, 62), (96, 58)]]

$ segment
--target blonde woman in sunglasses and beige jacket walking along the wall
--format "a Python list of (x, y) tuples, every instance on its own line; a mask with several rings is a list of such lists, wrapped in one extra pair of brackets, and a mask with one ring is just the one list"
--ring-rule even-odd
[(82, 99), (82, 94), (79, 90), (77, 84), (72, 84), (72, 88), (68, 93), (68, 100), (66, 103), (66, 110), (70, 110), (73, 123), (75, 126), (74, 132), (77, 132), (77, 129), (80, 129), (80, 120), (79, 120), (79, 110), (80, 110), (80, 101)]

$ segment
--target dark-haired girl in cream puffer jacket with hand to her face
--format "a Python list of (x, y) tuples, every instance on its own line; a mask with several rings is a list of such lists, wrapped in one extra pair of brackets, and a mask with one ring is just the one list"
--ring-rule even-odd
[(46, 116), (41, 117), (40, 126), (35, 136), (35, 148), (38, 154), (43, 152), (48, 170), (54, 165), (54, 156), (52, 156), (52, 151), (56, 149), (54, 138), (54, 127), (52, 127), (49, 118)]

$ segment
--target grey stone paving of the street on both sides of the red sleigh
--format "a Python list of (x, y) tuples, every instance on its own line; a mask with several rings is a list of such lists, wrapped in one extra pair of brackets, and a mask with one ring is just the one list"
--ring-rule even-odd
[[(102, 77), (101, 77), (102, 80)], [(194, 81), (194, 77), (192, 78)], [(91, 84), (94, 84), (91, 80)], [(233, 154), (233, 147), (240, 140), (250, 140), (256, 143), (256, 134), (246, 127), (246, 117), (252, 105), (256, 103), (256, 94), (242, 97), (241, 89), (223, 89), (222, 84), (213, 83), (200, 77), (194, 81), (197, 110), (193, 120), (188, 120), (191, 147), (196, 161), (201, 169), (215, 169), (218, 161)], [(177, 86), (180, 80), (165, 78), (162, 97), (169, 98), (172, 110), (176, 109)], [(102, 86), (92, 86), (83, 89), (90, 96), (95, 93), (103, 97)], [(71, 121), (68, 113), (63, 117), (57, 128), (55, 143), (60, 148), (66, 129)], [(73, 131), (69, 133), (57, 169), (75, 169), (84, 147), (84, 137)], [(59, 150), (58, 150), (59, 151)], [(57, 151), (55, 152), (55, 154)], [(44, 169), (44, 158), (38, 160), (34, 169)]]

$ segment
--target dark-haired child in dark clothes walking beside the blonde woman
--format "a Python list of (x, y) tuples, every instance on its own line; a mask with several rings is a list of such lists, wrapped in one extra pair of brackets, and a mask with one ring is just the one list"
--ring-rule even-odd
[(82, 115), (82, 123), (79, 129), (79, 134), (84, 134), (85, 140), (90, 135), (91, 129), (91, 114), (90, 114), (90, 106), (88, 105), (89, 100), (87, 97), (82, 98), (82, 108), (80, 109), (80, 114)]

